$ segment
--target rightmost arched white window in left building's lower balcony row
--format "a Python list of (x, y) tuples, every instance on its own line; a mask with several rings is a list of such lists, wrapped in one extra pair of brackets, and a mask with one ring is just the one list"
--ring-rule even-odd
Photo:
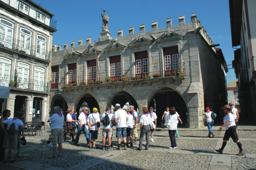
[(44, 68), (35, 67), (34, 90), (44, 91), (44, 73)]

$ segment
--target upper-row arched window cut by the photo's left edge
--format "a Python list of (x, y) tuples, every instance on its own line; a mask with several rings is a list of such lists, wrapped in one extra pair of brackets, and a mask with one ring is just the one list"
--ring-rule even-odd
[(0, 18), (0, 40), (7, 47), (12, 48), (14, 24), (3, 18)]

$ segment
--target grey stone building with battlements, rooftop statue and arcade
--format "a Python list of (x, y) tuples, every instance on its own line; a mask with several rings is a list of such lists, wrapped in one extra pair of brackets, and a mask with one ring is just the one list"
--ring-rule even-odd
[(227, 103), (228, 69), (221, 49), (195, 14), (188, 23), (179, 16), (177, 26), (168, 18), (165, 28), (158, 29), (157, 21), (151, 27), (145, 32), (142, 24), (137, 34), (129, 27), (128, 36), (120, 29), (112, 38), (103, 25), (96, 44), (88, 37), (85, 45), (82, 39), (77, 47), (75, 41), (71, 48), (65, 43), (63, 51), (61, 44), (53, 45), (50, 113), (53, 106), (79, 111), (86, 102), (102, 114), (128, 102), (140, 113), (142, 107), (155, 107), (160, 123), (165, 108), (175, 106), (187, 127), (203, 127), (204, 108), (218, 113)]

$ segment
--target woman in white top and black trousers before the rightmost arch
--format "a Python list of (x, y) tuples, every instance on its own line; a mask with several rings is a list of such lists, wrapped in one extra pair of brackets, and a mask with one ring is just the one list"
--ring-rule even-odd
[(169, 147), (169, 149), (176, 149), (177, 143), (176, 143), (175, 133), (177, 130), (178, 115), (176, 114), (175, 107), (171, 107), (171, 113), (167, 117), (165, 117), (165, 120), (168, 120), (168, 119), (171, 122), (171, 125), (168, 126), (168, 132), (171, 140), (171, 147)]

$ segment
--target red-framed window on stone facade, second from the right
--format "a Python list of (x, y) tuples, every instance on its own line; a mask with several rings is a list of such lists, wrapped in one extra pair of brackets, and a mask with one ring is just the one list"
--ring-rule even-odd
[(142, 51), (134, 53), (135, 55), (135, 64), (136, 70), (135, 73), (137, 76), (143, 77), (143, 75), (149, 72), (149, 59), (148, 59), (148, 51)]

